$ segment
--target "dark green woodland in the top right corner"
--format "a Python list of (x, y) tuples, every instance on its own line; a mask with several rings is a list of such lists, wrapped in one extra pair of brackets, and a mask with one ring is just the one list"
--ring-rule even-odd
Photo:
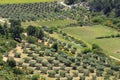
[(103, 12), (106, 15), (115, 14), (120, 16), (120, 0), (65, 0), (68, 5), (77, 2), (88, 2), (91, 11)]

